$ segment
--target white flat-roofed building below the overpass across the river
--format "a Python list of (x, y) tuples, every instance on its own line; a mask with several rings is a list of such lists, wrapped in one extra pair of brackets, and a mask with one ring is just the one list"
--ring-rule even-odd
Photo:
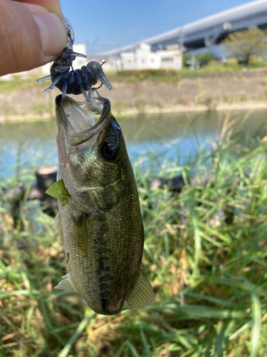
[(178, 45), (166, 46), (166, 49), (151, 51), (148, 44), (140, 44), (131, 52), (122, 52), (106, 60), (105, 71), (125, 71), (140, 69), (181, 69), (182, 51)]

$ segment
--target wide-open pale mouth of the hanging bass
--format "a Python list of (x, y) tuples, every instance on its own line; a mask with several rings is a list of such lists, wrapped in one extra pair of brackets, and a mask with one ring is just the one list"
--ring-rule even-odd
[[(95, 123), (95, 115), (99, 115)], [(110, 101), (101, 96), (92, 95), (91, 101), (75, 101), (69, 96), (56, 97), (56, 118), (58, 134), (69, 149), (71, 146), (79, 146), (85, 141), (97, 136), (108, 125), (110, 119)], [(73, 148), (74, 149), (74, 148)]]

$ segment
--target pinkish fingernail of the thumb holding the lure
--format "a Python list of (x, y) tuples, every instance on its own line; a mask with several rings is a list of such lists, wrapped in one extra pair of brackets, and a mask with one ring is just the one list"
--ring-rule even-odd
[(68, 34), (60, 17), (51, 13), (35, 13), (33, 18), (38, 25), (43, 54), (56, 56), (66, 47)]

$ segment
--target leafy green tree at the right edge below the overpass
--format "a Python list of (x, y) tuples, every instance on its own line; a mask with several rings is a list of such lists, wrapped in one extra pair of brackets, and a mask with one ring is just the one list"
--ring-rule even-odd
[(248, 64), (255, 57), (266, 54), (266, 31), (251, 27), (230, 34), (223, 42), (228, 54), (237, 61)]

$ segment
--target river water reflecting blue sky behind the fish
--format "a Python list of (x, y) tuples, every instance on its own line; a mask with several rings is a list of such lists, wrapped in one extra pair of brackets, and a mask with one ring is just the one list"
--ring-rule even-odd
[[(120, 119), (130, 159), (150, 151), (172, 158), (179, 155), (181, 162), (193, 156), (200, 147), (209, 149), (211, 141), (218, 141), (224, 112), (201, 114), (160, 114)], [(233, 111), (235, 130), (248, 116), (247, 111)], [(246, 118), (245, 118), (246, 119)], [(254, 136), (267, 135), (267, 111), (253, 111), (241, 129)], [(0, 174), (14, 174), (23, 167), (56, 164), (56, 120), (49, 122), (7, 123), (0, 125)], [(20, 163), (18, 166), (17, 163)]]

